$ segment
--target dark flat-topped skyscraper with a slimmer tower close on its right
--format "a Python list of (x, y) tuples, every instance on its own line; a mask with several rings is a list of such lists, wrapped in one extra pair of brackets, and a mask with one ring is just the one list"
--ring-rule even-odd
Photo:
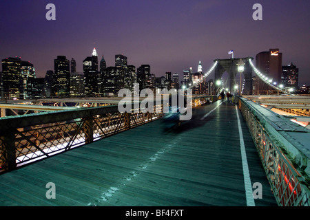
[(55, 96), (70, 96), (70, 61), (65, 56), (54, 59)]

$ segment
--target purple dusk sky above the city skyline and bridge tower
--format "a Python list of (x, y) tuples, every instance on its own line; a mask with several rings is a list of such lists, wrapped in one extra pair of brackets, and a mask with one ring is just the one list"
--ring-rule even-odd
[[(56, 6), (56, 21), (45, 19), (48, 3)], [(262, 5), (262, 21), (252, 19), (254, 3)], [(229, 50), (255, 58), (279, 48), (282, 65), (293, 62), (299, 85), (310, 85), (309, 10), (309, 0), (2, 0), (0, 58), (21, 56), (44, 77), (63, 55), (82, 72), (96, 43), (107, 66), (124, 54), (129, 65), (149, 64), (156, 76), (183, 76), (199, 61), (206, 72), (214, 59), (230, 58)]]

